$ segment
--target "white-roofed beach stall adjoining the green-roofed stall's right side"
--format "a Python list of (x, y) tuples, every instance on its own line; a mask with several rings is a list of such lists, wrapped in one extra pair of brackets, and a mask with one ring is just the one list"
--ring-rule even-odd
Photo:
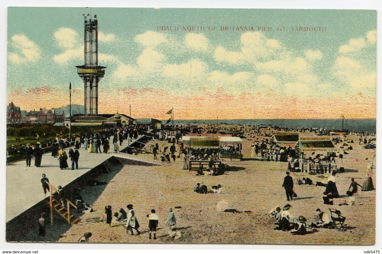
[(240, 137), (219, 137), (220, 158), (243, 159), (241, 154), (242, 143)]

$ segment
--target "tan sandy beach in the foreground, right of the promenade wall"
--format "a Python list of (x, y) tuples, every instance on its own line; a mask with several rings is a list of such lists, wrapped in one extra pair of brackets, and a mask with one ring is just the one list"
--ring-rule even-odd
[[(367, 167), (371, 166), (375, 153), (358, 145), (353, 138), (353, 150), (343, 159), (345, 172), (337, 174), (337, 188), (340, 197), (346, 197), (350, 179), (362, 184)], [(151, 141), (148, 146), (157, 141)], [(359, 191), (354, 206), (338, 206), (340, 199), (334, 199), (334, 205), (324, 205), (322, 193), (324, 187), (315, 185), (297, 185), (298, 197), (290, 201), (291, 214), (303, 215), (308, 224), (314, 222), (317, 208), (329, 213), (329, 208), (342, 211), (349, 229), (320, 228), (310, 235), (291, 235), (288, 231), (274, 230), (275, 220), (268, 211), (276, 205), (287, 203), (285, 190), (282, 188), (286, 162), (267, 162), (249, 159), (252, 138), (243, 140), (243, 161), (226, 161), (238, 171), (229, 171), (219, 176), (196, 176), (196, 171), (183, 170), (183, 162), (177, 159), (170, 164), (157, 160), (159, 166), (124, 166), (106, 186), (84, 188), (85, 201), (94, 199), (95, 188), (105, 190), (95, 199), (94, 212), (82, 215), (78, 225), (70, 227), (59, 239), (60, 242), (74, 242), (87, 231), (92, 232), (91, 242), (126, 242), (126, 243), (289, 243), (289, 244), (374, 244), (375, 241), (375, 191)], [(159, 142), (160, 147), (168, 145)], [(137, 158), (152, 159), (152, 154), (139, 154)], [(368, 158), (368, 160), (366, 160)], [(154, 161), (154, 160), (152, 160)], [(341, 161), (337, 162), (342, 164)], [(291, 173), (295, 182), (307, 174)], [(325, 182), (320, 175), (309, 175), (313, 182)], [(375, 177), (374, 185), (375, 183)], [(103, 176), (98, 180), (104, 180)], [(220, 184), (223, 194), (199, 194), (193, 191), (196, 183), (210, 188)], [(231, 208), (243, 213), (217, 211), (220, 201), (227, 201)], [(108, 224), (102, 221), (104, 207), (112, 206), (113, 213), (121, 207), (133, 204), (141, 225), (142, 235), (126, 234), (123, 225)], [(175, 209), (174, 207), (181, 208)], [(168, 236), (165, 222), (168, 208), (173, 207), (176, 227), (182, 235), (178, 240)], [(157, 240), (149, 240), (147, 214), (155, 209), (159, 216)], [(244, 212), (251, 211), (251, 212)], [(50, 230), (49, 226), (47, 231)]]

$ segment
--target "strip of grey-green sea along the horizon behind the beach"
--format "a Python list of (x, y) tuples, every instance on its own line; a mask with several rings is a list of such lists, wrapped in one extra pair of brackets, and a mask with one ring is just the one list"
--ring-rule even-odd
[[(137, 119), (138, 122), (150, 119)], [(166, 120), (163, 120), (165, 124)], [(342, 119), (214, 119), (177, 120), (174, 124), (231, 124), (231, 125), (272, 125), (288, 128), (325, 128), (342, 130)], [(343, 129), (355, 132), (376, 132), (376, 119), (344, 119)]]

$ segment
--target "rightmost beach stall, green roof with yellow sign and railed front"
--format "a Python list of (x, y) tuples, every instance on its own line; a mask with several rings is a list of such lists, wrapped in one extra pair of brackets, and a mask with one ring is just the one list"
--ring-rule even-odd
[(337, 170), (335, 156), (339, 150), (330, 137), (300, 137), (296, 151), (301, 172), (331, 174)]

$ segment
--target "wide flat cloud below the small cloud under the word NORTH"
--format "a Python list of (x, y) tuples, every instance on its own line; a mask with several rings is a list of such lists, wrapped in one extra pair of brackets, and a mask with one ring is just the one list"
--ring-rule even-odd
[(188, 63), (167, 64), (163, 68), (162, 75), (175, 78), (204, 77), (207, 71), (208, 66), (206, 63), (199, 59), (191, 59)]

